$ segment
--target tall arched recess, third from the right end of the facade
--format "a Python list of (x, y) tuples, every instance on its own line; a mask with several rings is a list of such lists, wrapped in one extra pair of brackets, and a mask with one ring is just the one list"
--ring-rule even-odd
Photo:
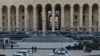
[(80, 22), (80, 6), (79, 4), (75, 4), (73, 6), (73, 9), (74, 9), (74, 14), (73, 14), (73, 26), (74, 26), (74, 31), (78, 31), (80, 29), (79, 27), (79, 24), (81, 23)]

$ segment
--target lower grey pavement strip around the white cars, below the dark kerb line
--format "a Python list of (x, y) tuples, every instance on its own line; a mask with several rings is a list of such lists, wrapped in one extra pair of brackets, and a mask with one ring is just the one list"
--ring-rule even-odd
[[(12, 56), (12, 54), (16, 53), (19, 50), (22, 49), (0, 49), (0, 54), (6, 54), (6, 56)], [(30, 50), (30, 49), (24, 49), (24, 50)], [(68, 52), (70, 53), (70, 56), (88, 55), (88, 53), (84, 53), (83, 50), (70, 50)], [(49, 56), (50, 53), (52, 53), (52, 50), (37, 50), (37, 52), (33, 53), (33, 56)], [(91, 55), (97, 55), (99, 53), (100, 53), (99, 50), (93, 50), (91, 52)]]

